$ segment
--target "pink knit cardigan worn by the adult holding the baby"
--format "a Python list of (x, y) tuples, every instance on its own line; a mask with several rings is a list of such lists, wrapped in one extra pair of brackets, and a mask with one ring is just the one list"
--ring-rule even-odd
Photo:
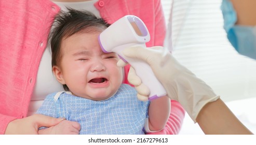
[[(138, 16), (151, 34), (146, 45), (163, 46), (166, 27), (159, 0), (101, 0), (95, 7), (108, 23), (125, 15)], [(0, 134), (10, 121), (26, 117), (47, 36), (59, 10), (46, 0), (0, 2)], [(184, 113), (177, 101), (171, 101), (169, 121), (156, 134), (178, 134)]]

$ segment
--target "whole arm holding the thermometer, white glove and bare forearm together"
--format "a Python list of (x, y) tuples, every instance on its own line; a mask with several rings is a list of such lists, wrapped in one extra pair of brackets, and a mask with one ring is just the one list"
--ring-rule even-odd
[[(127, 48), (123, 53), (148, 63), (166, 89), (168, 97), (179, 101), (205, 134), (252, 134), (210, 86), (176, 61), (167, 49), (136, 47)], [(119, 61), (117, 65), (123, 66), (124, 63)], [(130, 69), (129, 76), (129, 82), (136, 87), (138, 98), (147, 97), (146, 92), (140, 89), (144, 84), (133, 69)]]

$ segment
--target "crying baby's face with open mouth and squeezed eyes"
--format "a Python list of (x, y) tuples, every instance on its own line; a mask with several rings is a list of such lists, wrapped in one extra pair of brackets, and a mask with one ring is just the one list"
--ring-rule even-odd
[(104, 53), (100, 32), (78, 33), (62, 41), (61, 74), (70, 91), (79, 97), (103, 100), (116, 93), (122, 83), (122, 68), (116, 53)]

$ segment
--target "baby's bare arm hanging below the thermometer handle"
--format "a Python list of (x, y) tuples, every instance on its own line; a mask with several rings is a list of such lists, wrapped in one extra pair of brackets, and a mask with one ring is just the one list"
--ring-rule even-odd
[(159, 131), (163, 129), (170, 115), (170, 98), (163, 96), (151, 101), (149, 106), (149, 129)]

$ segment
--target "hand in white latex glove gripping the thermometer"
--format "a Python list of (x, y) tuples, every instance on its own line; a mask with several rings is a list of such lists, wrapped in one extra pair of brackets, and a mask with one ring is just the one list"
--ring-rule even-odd
[[(203, 80), (197, 78), (190, 70), (182, 66), (171, 53), (163, 47), (133, 47), (123, 51), (124, 55), (147, 62), (156, 78), (163, 84), (170, 99), (177, 100), (196, 122), (200, 110), (209, 102), (219, 98)], [(118, 66), (125, 63), (119, 60)], [(150, 90), (141, 83), (141, 79), (131, 67), (128, 81), (138, 92), (138, 98), (145, 100)]]

